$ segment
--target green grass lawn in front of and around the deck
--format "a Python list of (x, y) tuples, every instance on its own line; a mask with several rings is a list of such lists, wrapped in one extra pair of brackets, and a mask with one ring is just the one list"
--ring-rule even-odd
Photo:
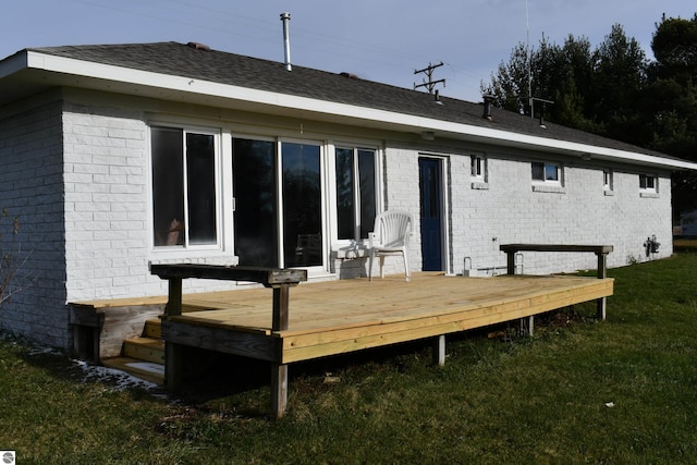
[(608, 321), (588, 304), (534, 338), (450, 338), (440, 368), (426, 343), (293, 365), (278, 421), (266, 368), (230, 365), (244, 383), (174, 402), (5, 339), (0, 449), (37, 464), (694, 463), (696, 268), (681, 254), (610, 270)]

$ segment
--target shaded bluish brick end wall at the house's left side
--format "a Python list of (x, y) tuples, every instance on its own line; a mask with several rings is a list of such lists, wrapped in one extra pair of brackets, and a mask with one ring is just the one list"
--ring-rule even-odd
[[(26, 103), (28, 106), (28, 103)], [(2, 252), (22, 264), (11, 286), (24, 286), (0, 307), (0, 326), (50, 346), (70, 340), (65, 307), (65, 237), (61, 103), (19, 108), (0, 120)], [(20, 232), (12, 243), (12, 218)]]

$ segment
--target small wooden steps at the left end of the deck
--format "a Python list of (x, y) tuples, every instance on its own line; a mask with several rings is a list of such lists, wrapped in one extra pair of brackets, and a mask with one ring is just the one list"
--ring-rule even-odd
[(101, 364), (136, 378), (162, 384), (164, 382), (164, 341), (160, 320), (147, 320), (142, 335), (123, 342), (121, 356), (105, 358)]

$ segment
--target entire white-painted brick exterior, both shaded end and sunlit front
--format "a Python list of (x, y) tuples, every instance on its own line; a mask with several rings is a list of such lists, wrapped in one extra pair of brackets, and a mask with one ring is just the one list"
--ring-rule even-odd
[[(72, 345), (66, 303), (166, 295), (167, 283), (149, 273), (149, 261), (216, 262), (223, 255), (154, 253), (148, 139), (150, 119), (168, 119), (158, 108), (178, 114), (176, 121), (212, 121), (211, 114), (222, 113), (152, 100), (89, 97), (100, 102), (69, 99), (0, 121), (0, 198), (10, 215), (20, 215), (26, 234), (22, 246), (32, 250), (26, 269), (36, 277), (30, 291), (0, 310), (2, 328), (65, 348)], [(223, 133), (235, 133), (235, 121), (247, 121), (233, 111), (224, 114), (213, 125)], [(272, 136), (272, 129), (264, 131)], [(241, 132), (249, 133), (249, 126)], [(643, 243), (653, 234), (662, 244), (656, 258), (672, 253), (668, 176), (659, 176), (658, 195), (641, 197), (638, 172), (613, 167), (613, 195), (606, 195), (607, 167), (559, 158), (555, 161), (564, 167), (562, 192), (535, 192), (530, 162), (540, 159), (535, 154), (449, 140), (425, 146), (409, 135), (368, 133), (366, 137), (383, 147), (381, 207), (408, 211), (416, 220), (413, 270), (421, 268), (419, 157), (443, 162), (443, 254), (444, 271), (450, 273), (463, 273), (465, 258), (477, 276), (503, 267), (499, 246), (505, 243), (611, 244), (611, 267), (646, 259)], [(321, 134), (307, 137), (351, 140), (362, 135), (357, 129), (325, 125)], [(472, 152), (487, 158), (486, 184), (473, 186)], [(574, 271), (596, 264), (595, 256), (585, 254), (524, 256), (526, 273)], [(330, 259), (331, 272), (316, 279), (366, 276), (367, 265), (365, 255)], [(386, 272), (402, 273), (401, 260), (388, 258)], [(234, 284), (221, 281), (185, 281), (187, 292), (231, 287)]]

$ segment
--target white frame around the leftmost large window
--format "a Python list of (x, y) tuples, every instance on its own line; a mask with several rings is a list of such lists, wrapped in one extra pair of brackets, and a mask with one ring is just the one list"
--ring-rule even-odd
[[(183, 170), (184, 170), (184, 219), (186, 223), (188, 223), (188, 203), (186, 201), (187, 195), (187, 180), (186, 180), (186, 135), (187, 134), (204, 134), (213, 136), (213, 176), (216, 181), (216, 243), (215, 244), (200, 244), (200, 245), (192, 245), (188, 244), (188, 241), (184, 238), (184, 244), (182, 245), (156, 245), (154, 238), (154, 230), (156, 228), (154, 222), (154, 213), (155, 213), (155, 198), (154, 198), (154, 180), (152, 180), (152, 137), (151, 131), (154, 129), (169, 129), (176, 130), (182, 132), (183, 138)], [(189, 257), (192, 253), (195, 253), (197, 257), (205, 258), (207, 256), (220, 256), (223, 254), (225, 244), (228, 243), (225, 237), (225, 229), (223, 227), (225, 219), (224, 216), (224, 185), (225, 182), (222, 179), (221, 173), (223, 172), (222, 167), (222, 144), (223, 144), (223, 132), (220, 127), (205, 126), (205, 125), (195, 125), (195, 124), (182, 124), (175, 122), (161, 122), (161, 121), (151, 121), (148, 123), (148, 195), (149, 195), (149, 241), (150, 241), (150, 250), (154, 255), (157, 256), (186, 256)], [(188, 229), (188, 224), (187, 224)]]

